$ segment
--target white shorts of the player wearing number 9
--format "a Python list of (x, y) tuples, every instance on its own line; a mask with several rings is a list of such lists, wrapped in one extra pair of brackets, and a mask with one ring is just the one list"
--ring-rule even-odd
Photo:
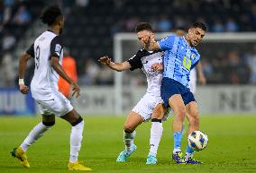
[(49, 99), (36, 99), (41, 115), (54, 114), (55, 116), (62, 117), (73, 109), (69, 99), (59, 91), (51, 92), (50, 96)]

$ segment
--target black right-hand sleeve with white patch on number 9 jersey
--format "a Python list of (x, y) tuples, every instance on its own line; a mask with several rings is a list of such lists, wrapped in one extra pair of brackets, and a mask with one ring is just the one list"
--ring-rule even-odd
[(50, 58), (52, 56), (59, 57), (63, 49), (62, 39), (59, 36), (56, 36), (50, 42)]

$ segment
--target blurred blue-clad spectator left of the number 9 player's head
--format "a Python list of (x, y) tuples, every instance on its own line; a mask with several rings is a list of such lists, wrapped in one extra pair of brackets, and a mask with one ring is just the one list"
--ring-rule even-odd
[(23, 25), (31, 21), (31, 13), (27, 8), (22, 5), (19, 7), (17, 13), (14, 15), (14, 23), (18, 25)]

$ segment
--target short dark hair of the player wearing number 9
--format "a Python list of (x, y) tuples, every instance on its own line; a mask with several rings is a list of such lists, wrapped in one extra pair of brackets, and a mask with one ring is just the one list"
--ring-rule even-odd
[(52, 5), (48, 7), (42, 14), (41, 14), (41, 22), (48, 24), (49, 26), (53, 23), (57, 22), (59, 18), (63, 18), (63, 15), (59, 9), (58, 5)]

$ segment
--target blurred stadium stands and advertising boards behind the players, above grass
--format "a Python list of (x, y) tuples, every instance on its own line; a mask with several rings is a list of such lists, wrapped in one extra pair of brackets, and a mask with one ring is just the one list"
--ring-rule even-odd
[[(256, 82), (256, 37), (253, 33), (256, 3), (252, 0), (4, 0), (0, 4), (1, 114), (34, 114), (36, 111), (31, 104), (22, 101), (31, 103), (32, 99), (21, 96), (14, 88), (18, 58), (45, 30), (38, 16), (50, 4), (59, 4), (63, 9), (66, 19), (64, 43), (77, 61), (79, 85), (87, 87), (82, 90), (82, 97), (74, 101), (82, 114), (125, 115), (145, 90), (146, 80), (141, 72), (125, 72), (121, 74), (122, 79), (115, 81), (120, 74), (96, 61), (100, 56), (114, 57), (114, 36), (133, 33), (138, 22), (151, 22), (156, 32), (166, 33), (180, 28), (186, 30), (189, 23), (195, 21), (205, 22), (208, 27), (206, 41), (198, 48), (207, 80), (206, 87), (197, 90), (201, 112), (246, 114), (256, 111), (253, 86)], [(217, 39), (207, 41), (209, 33), (215, 34), (211, 38)], [(123, 52), (119, 56), (123, 61), (139, 48), (135, 36), (128, 40), (130, 42), (125, 39), (121, 42)], [(32, 71), (31, 62), (25, 79), (27, 84), (32, 79)], [(123, 91), (118, 91), (118, 82)], [(132, 90), (134, 86), (138, 90)], [(17, 102), (24, 104), (17, 108)]]

